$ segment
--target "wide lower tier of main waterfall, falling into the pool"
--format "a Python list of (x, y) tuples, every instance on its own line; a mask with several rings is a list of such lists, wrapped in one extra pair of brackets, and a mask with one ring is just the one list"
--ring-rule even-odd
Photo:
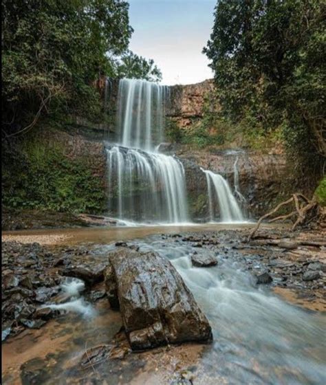
[(110, 188), (117, 188), (111, 204), (118, 207), (120, 219), (187, 220), (184, 168), (178, 159), (121, 146), (110, 148), (107, 159)]

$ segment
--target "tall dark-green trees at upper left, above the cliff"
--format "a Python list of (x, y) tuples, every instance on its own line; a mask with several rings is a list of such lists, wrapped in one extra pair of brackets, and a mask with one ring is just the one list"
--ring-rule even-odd
[[(153, 61), (128, 50), (128, 10), (122, 0), (2, 2), (7, 135), (49, 113), (98, 120), (102, 103), (94, 85), (102, 75), (160, 78)], [(133, 65), (127, 68), (128, 59)]]

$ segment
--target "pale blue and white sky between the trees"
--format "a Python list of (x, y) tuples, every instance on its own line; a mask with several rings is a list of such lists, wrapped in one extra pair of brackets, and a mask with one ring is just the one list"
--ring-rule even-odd
[(155, 61), (164, 85), (213, 78), (202, 49), (213, 28), (217, 0), (129, 0), (130, 49)]

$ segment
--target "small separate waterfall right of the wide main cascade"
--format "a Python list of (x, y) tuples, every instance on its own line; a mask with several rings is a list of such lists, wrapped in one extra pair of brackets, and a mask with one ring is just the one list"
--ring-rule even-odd
[(215, 197), (219, 206), (219, 214), (222, 222), (243, 221), (243, 215), (237, 200), (232, 195), (228, 181), (221, 175), (215, 174), (210, 170), (204, 170), (203, 168), (201, 168), (201, 170), (206, 175), (210, 221), (214, 221), (217, 217)]

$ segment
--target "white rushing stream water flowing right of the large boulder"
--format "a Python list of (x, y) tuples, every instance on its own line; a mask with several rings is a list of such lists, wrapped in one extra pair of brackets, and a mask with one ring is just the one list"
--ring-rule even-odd
[(197, 268), (191, 255), (198, 250), (182, 242), (157, 240), (140, 250), (170, 259), (208, 317), (215, 342), (203, 365), (215, 383), (325, 384), (325, 316), (257, 288), (237, 252), (220, 254), (216, 267)]

